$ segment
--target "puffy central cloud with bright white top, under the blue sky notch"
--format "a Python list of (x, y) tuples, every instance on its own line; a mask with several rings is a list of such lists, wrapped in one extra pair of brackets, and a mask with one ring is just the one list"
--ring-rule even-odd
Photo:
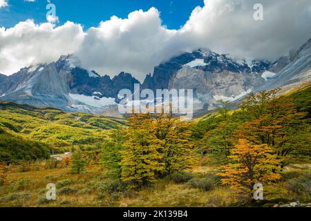
[(156, 8), (139, 10), (127, 19), (111, 17), (90, 28), (76, 55), (86, 68), (109, 75), (124, 70), (142, 79), (153, 66), (176, 54), (168, 50), (176, 35), (178, 31), (161, 26)]

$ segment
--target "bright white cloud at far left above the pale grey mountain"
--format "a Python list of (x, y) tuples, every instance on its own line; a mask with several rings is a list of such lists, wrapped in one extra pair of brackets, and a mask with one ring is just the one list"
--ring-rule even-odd
[(83, 39), (82, 27), (69, 21), (56, 28), (32, 20), (0, 28), (0, 73), (10, 75), (25, 66), (55, 61), (75, 52)]

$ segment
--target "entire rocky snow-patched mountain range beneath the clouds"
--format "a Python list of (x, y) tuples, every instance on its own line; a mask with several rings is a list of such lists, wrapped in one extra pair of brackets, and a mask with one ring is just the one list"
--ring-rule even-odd
[[(299, 50), (277, 61), (234, 59), (207, 49), (186, 52), (154, 68), (141, 89), (194, 89), (197, 113), (212, 110), (217, 100), (235, 101), (248, 93), (310, 81), (311, 39)], [(129, 73), (109, 77), (82, 68), (73, 56), (51, 64), (22, 68), (14, 75), (0, 74), (0, 99), (55, 106), (64, 111), (117, 114), (118, 92), (140, 82)]]

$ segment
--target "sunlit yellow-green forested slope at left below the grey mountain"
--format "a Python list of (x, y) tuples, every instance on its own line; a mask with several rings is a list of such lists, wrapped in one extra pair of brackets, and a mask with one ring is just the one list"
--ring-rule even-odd
[(100, 143), (107, 130), (123, 124), (122, 119), (0, 102), (0, 127), (4, 131), (49, 144), (55, 151)]

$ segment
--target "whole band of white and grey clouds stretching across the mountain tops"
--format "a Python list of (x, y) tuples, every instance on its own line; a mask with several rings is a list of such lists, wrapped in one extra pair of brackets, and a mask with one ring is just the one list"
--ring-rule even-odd
[[(26, 23), (20, 23), (10, 31), (0, 29), (0, 72), (75, 53), (83, 66), (100, 74), (126, 71), (142, 80), (161, 61), (183, 51), (204, 47), (239, 58), (276, 59), (311, 37), (310, 0), (261, 0), (263, 21), (253, 19), (255, 3), (258, 1), (205, 0), (205, 6), (195, 8), (178, 30), (163, 26), (156, 8), (131, 12), (126, 19), (111, 17), (85, 33), (73, 23), (53, 28), (26, 21), (30, 28), (21, 28)], [(45, 34), (39, 31), (41, 26)], [(15, 34), (4, 41), (9, 32)], [(45, 35), (52, 42), (50, 51), (38, 49)]]

